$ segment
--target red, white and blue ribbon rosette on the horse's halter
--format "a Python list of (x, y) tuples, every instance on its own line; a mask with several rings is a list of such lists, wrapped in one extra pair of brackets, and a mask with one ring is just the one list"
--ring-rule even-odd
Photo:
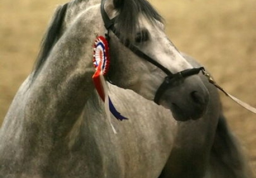
[(117, 120), (122, 121), (127, 119), (116, 110), (109, 97), (109, 89), (104, 78), (109, 71), (110, 65), (109, 43), (103, 36), (97, 37), (95, 40), (93, 65), (96, 68), (96, 72), (92, 76), (93, 83), (102, 101), (105, 102), (105, 111), (107, 113), (107, 117), (109, 117), (110, 120), (110, 111), (112, 115), (117, 118)]

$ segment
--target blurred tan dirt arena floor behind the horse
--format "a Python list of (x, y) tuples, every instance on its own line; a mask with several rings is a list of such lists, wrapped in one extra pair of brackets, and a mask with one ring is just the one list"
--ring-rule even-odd
[[(66, 1), (1, 0), (0, 125), (37, 56), (57, 4)], [(207, 67), (221, 86), (256, 106), (256, 1), (151, 0), (180, 51)], [(256, 115), (221, 94), (229, 126), (256, 170)]]

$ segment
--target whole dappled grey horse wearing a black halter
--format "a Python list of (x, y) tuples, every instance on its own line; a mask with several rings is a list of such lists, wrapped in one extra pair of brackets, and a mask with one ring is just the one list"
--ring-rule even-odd
[[(110, 97), (129, 118), (111, 115), (116, 133), (92, 81), (93, 43), (104, 34)], [(145, 0), (59, 6), (4, 118), (0, 177), (249, 177), (201, 70)]]

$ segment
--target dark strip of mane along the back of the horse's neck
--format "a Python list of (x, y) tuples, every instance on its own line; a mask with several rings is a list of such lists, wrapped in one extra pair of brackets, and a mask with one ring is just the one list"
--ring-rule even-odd
[(36, 77), (38, 71), (40, 70), (43, 63), (45, 63), (48, 55), (50, 54), (52, 47), (56, 44), (58, 39), (61, 37), (61, 28), (63, 24), (63, 20), (66, 15), (68, 3), (58, 6), (55, 14), (52, 17), (50, 27), (48, 27), (45, 35), (43, 36), (41, 42), (41, 49), (38, 53), (37, 60), (35, 66), (33, 68), (33, 76), (32, 81)]

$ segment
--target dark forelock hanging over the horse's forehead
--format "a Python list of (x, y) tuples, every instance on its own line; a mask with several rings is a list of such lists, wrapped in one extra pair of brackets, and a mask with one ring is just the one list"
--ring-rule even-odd
[(139, 15), (144, 15), (152, 24), (156, 21), (163, 22), (163, 17), (146, 0), (114, 0), (114, 6), (119, 12), (115, 19), (117, 31), (120, 33), (120, 39), (126, 40), (129, 37), (135, 37), (139, 26)]

